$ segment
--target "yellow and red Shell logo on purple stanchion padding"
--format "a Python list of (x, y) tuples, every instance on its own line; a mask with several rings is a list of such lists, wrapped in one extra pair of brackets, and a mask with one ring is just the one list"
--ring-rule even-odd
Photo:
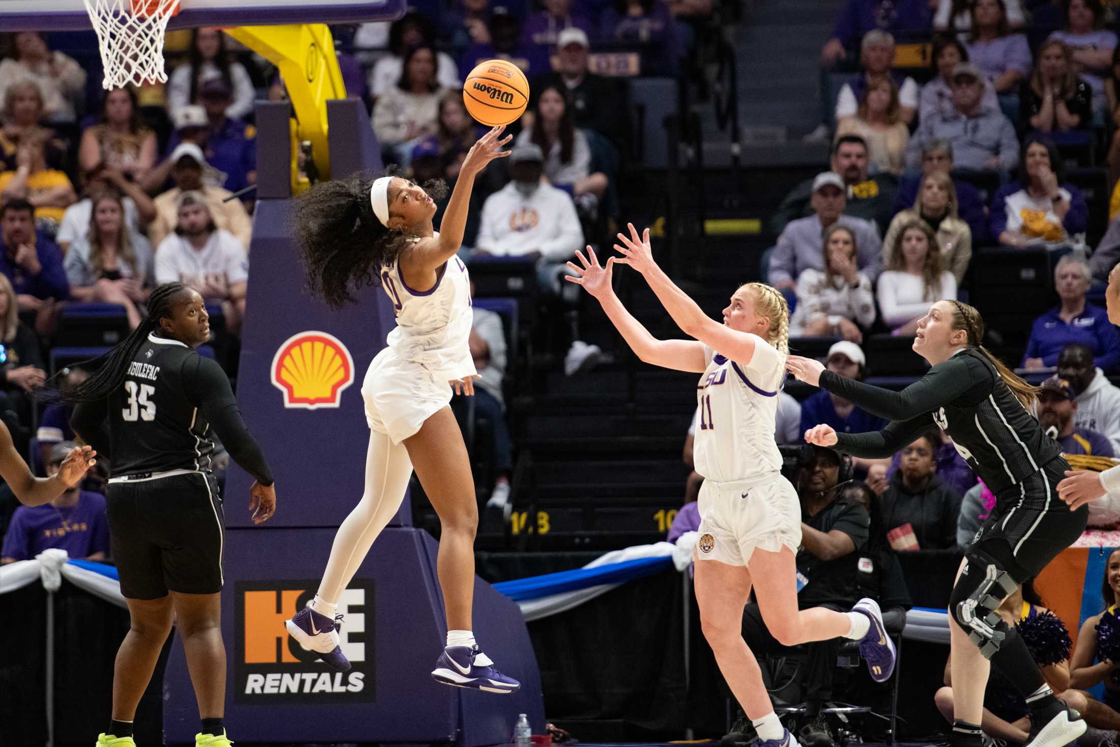
[(272, 385), (283, 392), (286, 408), (337, 408), (353, 383), (354, 358), (325, 332), (292, 335), (272, 357)]

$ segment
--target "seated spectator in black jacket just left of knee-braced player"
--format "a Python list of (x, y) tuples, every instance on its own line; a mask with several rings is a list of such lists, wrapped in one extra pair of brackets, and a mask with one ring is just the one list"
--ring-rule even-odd
[(883, 494), (886, 532), (895, 550), (956, 547), (961, 495), (935, 471), (941, 437), (926, 431), (902, 449), (902, 461)]

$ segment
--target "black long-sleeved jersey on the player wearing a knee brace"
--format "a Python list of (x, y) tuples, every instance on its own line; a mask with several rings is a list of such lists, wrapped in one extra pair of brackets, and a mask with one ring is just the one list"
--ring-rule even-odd
[(825, 371), (821, 387), (892, 422), (876, 433), (837, 433), (837, 449), (885, 458), (936, 423), (997, 497), (1014, 498), (1062, 447), (1046, 436), (983, 353), (959, 351), (900, 392)]

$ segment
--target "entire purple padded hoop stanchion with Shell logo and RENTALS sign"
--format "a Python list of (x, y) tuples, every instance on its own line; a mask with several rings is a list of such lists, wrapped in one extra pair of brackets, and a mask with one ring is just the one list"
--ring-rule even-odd
[[(340, 312), (304, 292), (289, 239), (287, 104), (259, 104), (259, 202), (253, 222), (249, 312), (237, 401), (277, 480), (277, 513), (250, 521), (251, 478), (226, 480), (222, 628), (228, 651), (226, 723), (248, 743), (506, 743), (517, 713), (543, 731), (536, 659), (516, 605), (480, 579), (475, 629), (500, 653), (521, 692), (493, 695), (448, 688), (429, 672), (447, 633), (436, 576), (438, 544), (411, 526), (409, 502), (377, 539), (339, 605), (344, 651), (337, 673), (284, 633), (318, 586), (335, 530), (363, 491), (368, 428), (362, 379), (393, 326), (380, 289)], [(356, 101), (328, 102), (335, 177), (381, 168), (377, 143)], [(168, 744), (193, 743), (198, 713), (181, 644), (165, 679)]]

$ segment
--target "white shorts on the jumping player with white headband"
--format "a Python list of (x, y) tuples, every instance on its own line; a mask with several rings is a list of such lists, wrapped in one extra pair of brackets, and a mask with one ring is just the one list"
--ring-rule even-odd
[(436, 380), (419, 363), (402, 361), (385, 348), (370, 364), (362, 382), (365, 421), (393, 443), (414, 436), (423, 422), (451, 401), (451, 385)]

